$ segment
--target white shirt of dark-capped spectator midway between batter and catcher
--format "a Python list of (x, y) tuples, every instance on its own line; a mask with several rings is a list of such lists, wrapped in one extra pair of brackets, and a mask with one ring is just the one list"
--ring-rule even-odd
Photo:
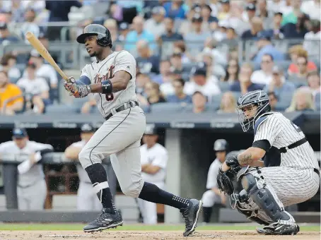
[(221, 93), (220, 88), (213, 81), (207, 80), (204, 85), (197, 85), (194, 82), (187, 82), (184, 86), (184, 93), (186, 95), (193, 95), (194, 92), (202, 92), (203, 95), (211, 97), (212, 95), (218, 95)]

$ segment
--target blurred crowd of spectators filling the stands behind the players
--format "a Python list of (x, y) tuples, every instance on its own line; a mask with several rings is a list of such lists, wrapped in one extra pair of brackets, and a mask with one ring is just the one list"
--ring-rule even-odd
[[(0, 48), (26, 42), (28, 31), (46, 47), (61, 41), (63, 25), (49, 23), (73, 25), (71, 41), (90, 23), (105, 25), (113, 50), (136, 57), (146, 111), (174, 104), (235, 112), (238, 96), (258, 89), (269, 93), (274, 111), (320, 111), (320, 0), (11, 0), (0, 11)], [(0, 114), (49, 113), (59, 102), (58, 82), (37, 52), (6, 52)], [(95, 101), (88, 97), (76, 111), (97, 111)]]

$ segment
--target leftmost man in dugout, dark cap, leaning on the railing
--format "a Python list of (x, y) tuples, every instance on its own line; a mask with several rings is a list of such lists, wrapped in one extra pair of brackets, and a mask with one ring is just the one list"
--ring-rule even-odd
[(18, 165), (18, 209), (43, 210), (47, 184), (42, 164), (42, 154), (52, 152), (52, 145), (30, 141), (23, 128), (13, 129), (12, 141), (0, 144), (0, 154), (14, 154), (16, 159), (28, 157)]

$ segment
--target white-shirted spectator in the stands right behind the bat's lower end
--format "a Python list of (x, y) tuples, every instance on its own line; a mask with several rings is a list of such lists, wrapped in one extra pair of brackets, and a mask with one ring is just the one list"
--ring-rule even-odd
[[(30, 52), (30, 61), (36, 66), (35, 75), (37, 78), (45, 78), (45, 80), (48, 80), (50, 88), (57, 88), (58, 78), (56, 71), (51, 65), (44, 63), (44, 59), (35, 49)], [(23, 73), (23, 77), (27, 76), (27, 74), (26, 69)]]

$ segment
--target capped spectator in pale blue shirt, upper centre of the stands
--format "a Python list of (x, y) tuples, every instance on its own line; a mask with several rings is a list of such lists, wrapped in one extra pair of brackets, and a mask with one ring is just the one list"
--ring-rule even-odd
[(202, 51), (206, 38), (211, 37), (211, 32), (202, 30), (202, 21), (202, 16), (195, 13), (192, 18), (192, 29), (184, 37), (189, 54), (193, 55)]

